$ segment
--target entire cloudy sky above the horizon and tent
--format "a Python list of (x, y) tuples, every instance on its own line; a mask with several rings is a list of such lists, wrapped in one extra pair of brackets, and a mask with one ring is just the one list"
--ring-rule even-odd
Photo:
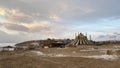
[(120, 40), (120, 0), (0, 0), (0, 42)]

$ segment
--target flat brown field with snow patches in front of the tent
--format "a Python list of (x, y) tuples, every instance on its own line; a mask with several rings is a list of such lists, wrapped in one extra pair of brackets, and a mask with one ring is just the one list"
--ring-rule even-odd
[[(119, 49), (105, 45), (0, 52), (0, 68), (119, 68)], [(107, 50), (113, 53), (106, 55)]]

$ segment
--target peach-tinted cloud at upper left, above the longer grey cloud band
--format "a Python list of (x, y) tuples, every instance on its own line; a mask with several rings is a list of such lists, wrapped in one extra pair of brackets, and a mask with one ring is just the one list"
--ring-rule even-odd
[(13, 23), (31, 23), (34, 21), (32, 16), (20, 12), (19, 9), (0, 8), (0, 15)]

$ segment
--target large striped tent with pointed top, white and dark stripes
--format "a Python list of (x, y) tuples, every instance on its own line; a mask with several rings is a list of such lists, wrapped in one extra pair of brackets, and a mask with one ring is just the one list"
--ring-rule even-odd
[(88, 40), (87, 36), (82, 33), (79, 33), (77, 36), (75, 35), (75, 40), (71, 43), (74, 46), (77, 45), (90, 45), (92, 44), (91, 40)]

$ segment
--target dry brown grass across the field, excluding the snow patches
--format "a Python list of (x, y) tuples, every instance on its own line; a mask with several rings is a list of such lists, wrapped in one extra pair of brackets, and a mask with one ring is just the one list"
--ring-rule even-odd
[[(37, 51), (44, 53), (62, 53), (71, 55), (96, 54), (98, 52), (80, 52), (89, 48), (112, 48), (112, 46), (81, 46), (65, 49), (42, 49)], [(72, 53), (73, 51), (77, 54)], [(120, 55), (120, 51), (117, 52)], [(4, 56), (3, 56), (4, 55)], [(119, 68), (120, 59), (107, 61), (101, 59), (87, 59), (80, 57), (41, 57), (30, 51), (0, 52), (0, 68)]]

